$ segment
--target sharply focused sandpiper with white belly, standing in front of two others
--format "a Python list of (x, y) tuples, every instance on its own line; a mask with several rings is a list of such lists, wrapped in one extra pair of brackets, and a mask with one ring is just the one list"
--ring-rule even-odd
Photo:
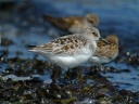
[(89, 61), (96, 52), (100, 32), (97, 28), (85, 29), (84, 34), (67, 35), (48, 43), (36, 46), (29, 51), (43, 55), (63, 69), (74, 68)]

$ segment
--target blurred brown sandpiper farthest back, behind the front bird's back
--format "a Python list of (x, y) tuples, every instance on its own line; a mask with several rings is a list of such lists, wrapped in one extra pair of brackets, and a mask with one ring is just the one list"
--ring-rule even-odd
[(56, 28), (72, 34), (84, 32), (85, 28), (96, 27), (99, 24), (99, 18), (92, 13), (86, 14), (84, 17), (52, 17), (49, 15), (43, 15), (43, 20), (48, 21)]

